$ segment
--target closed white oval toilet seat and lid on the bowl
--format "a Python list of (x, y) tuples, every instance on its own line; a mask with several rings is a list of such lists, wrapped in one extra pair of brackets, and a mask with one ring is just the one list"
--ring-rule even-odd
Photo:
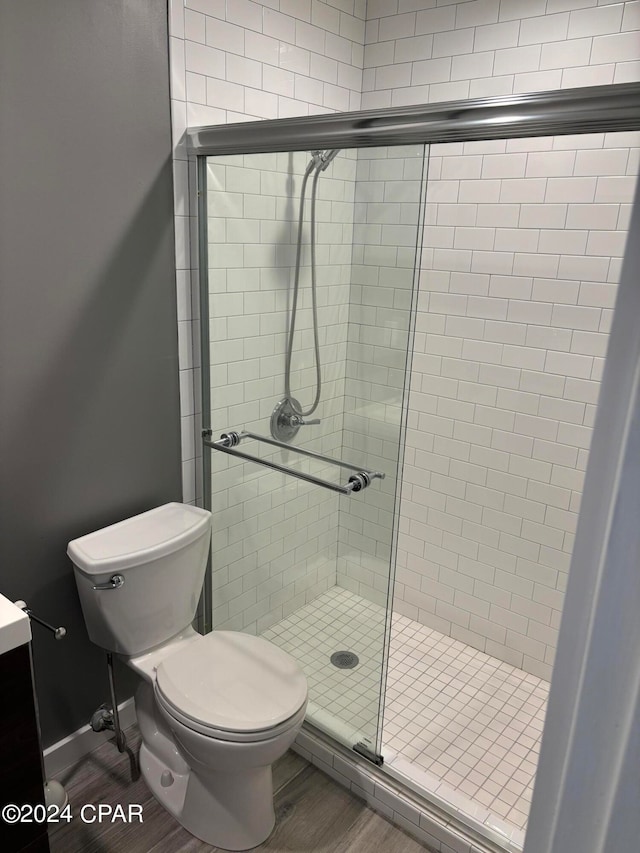
[(178, 722), (220, 740), (254, 742), (295, 725), (307, 681), (272, 643), (237, 631), (213, 631), (163, 660), (158, 703)]

